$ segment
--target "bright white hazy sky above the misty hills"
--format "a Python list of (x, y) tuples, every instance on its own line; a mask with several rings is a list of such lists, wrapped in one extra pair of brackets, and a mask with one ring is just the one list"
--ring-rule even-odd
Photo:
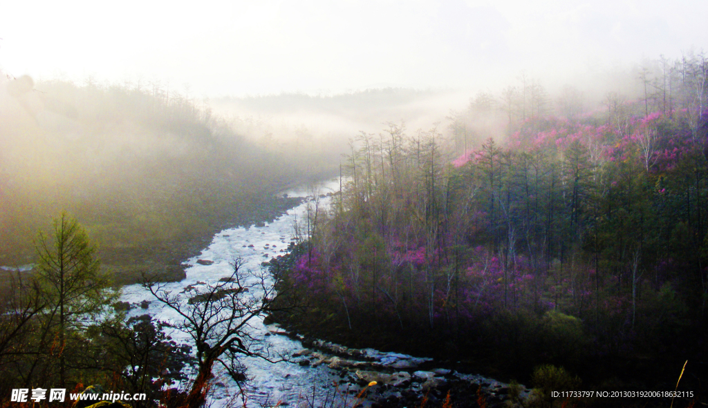
[(3, 1), (0, 69), (197, 95), (491, 87), (708, 45), (708, 1)]

